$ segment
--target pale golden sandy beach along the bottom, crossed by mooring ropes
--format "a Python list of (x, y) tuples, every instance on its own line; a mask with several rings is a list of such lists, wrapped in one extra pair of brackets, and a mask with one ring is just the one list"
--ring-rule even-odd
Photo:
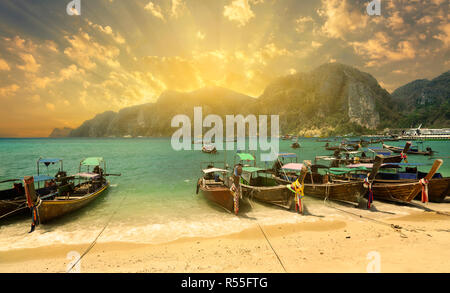
[[(256, 221), (254, 227), (234, 234), (162, 244), (99, 242), (82, 258), (79, 269), (83, 273), (364, 273), (373, 260), (368, 254), (376, 252), (384, 273), (450, 271), (448, 204), (428, 204), (442, 212), (436, 213), (378, 203), (378, 209), (403, 211), (394, 215), (334, 206), (345, 216), (264, 226)], [(68, 253), (83, 254), (88, 247), (52, 245), (2, 251), (0, 272), (66, 272), (73, 262)]]

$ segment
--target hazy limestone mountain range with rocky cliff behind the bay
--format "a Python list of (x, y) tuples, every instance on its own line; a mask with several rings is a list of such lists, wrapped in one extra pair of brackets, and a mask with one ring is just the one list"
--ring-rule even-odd
[(414, 123), (443, 127), (450, 121), (449, 76), (447, 72), (432, 81), (414, 81), (391, 95), (370, 74), (328, 63), (307, 73), (280, 77), (258, 98), (221, 87), (189, 93), (166, 91), (155, 103), (98, 114), (68, 136), (170, 136), (174, 131), (171, 119), (177, 114), (192, 119), (195, 106), (203, 108), (203, 117), (276, 114), (281, 133), (307, 136), (367, 133)]

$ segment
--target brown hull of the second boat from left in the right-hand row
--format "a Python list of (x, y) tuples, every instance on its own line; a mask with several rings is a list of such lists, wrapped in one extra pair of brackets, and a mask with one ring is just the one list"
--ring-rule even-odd
[(242, 184), (242, 195), (248, 199), (273, 204), (288, 210), (295, 209), (295, 194), (286, 184), (279, 186), (250, 186)]

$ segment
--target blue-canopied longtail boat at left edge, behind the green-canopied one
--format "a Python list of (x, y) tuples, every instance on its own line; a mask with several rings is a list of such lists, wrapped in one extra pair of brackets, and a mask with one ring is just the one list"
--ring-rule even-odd
[[(55, 176), (40, 174), (40, 164), (44, 164), (48, 169), (50, 165), (58, 163), (60, 167)], [(37, 175), (33, 176), (34, 182), (37, 184), (35, 192), (39, 196), (46, 196), (54, 192), (61, 184), (61, 179), (65, 176), (66, 173), (63, 171), (63, 161), (61, 159), (39, 158), (37, 161)], [(26, 204), (25, 189), (22, 184), (23, 178), (4, 180), (0, 183), (9, 182), (13, 183), (12, 188), (0, 190), (0, 219), (29, 212), (29, 207)]]

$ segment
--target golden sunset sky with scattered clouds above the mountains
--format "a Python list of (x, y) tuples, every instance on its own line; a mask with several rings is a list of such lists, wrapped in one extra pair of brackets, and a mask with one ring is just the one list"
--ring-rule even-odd
[(258, 97), (329, 62), (389, 92), (450, 69), (448, 0), (381, 0), (379, 16), (369, 0), (80, 0), (75, 15), (69, 2), (0, 2), (0, 137), (46, 137), (165, 90)]

